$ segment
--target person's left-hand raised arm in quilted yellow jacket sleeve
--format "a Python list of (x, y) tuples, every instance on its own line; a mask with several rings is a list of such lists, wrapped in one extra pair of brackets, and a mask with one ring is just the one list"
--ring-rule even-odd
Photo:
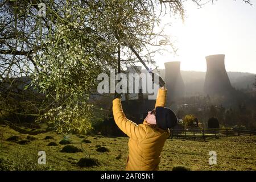
[(121, 100), (119, 98), (115, 98), (113, 100), (113, 115), (115, 123), (119, 129), (128, 135), (128, 137), (131, 137), (135, 140), (145, 137), (145, 128), (143, 126), (137, 125), (125, 117), (125, 113), (123, 113), (122, 110)]

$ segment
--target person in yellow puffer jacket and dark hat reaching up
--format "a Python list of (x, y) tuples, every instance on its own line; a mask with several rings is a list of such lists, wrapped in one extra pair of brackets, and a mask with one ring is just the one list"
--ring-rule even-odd
[(170, 129), (177, 124), (175, 113), (164, 107), (167, 89), (159, 88), (155, 108), (148, 111), (143, 123), (137, 125), (125, 117), (120, 98), (113, 100), (114, 121), (130, 137), (129, 155), (126, 162), (127, 171), (159, 170), (160, 154)]

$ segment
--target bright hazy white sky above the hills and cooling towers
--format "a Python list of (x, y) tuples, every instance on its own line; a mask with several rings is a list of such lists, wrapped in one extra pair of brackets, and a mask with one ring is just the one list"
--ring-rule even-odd
[(225, 54), (226, 71), (256, 73), (256, 1), (253, 6), (242, 0), (219, 0), (201, 9), (185, 3), (184, 24), (173, 22), (166, 31), (176, 36), (179, 56), (156, 55), (160, 68), (164, 62), (181, 61), (181, 70), (206, 71), (205, 56)]

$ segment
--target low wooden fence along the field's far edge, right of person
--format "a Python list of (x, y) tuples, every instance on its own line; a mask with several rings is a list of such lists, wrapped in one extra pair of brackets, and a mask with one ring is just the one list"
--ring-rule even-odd
[(170, 138), (206, 139), (210, 137), (256, 136), (256, 131), (231, 129), (172, 129)]

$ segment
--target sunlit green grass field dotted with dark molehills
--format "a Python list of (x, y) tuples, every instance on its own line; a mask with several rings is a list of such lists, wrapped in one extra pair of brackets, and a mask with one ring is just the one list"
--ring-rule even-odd
[[(101, 135), (64, 135), (53, 132), (39, 134), (27, 144), (7, 141), (17, 136), (20, 140), (27, 135), (19, 134), (9, 127), (0, 125), (0, 170), (124, 170), (128, 154), (127, 137), (106, 138)], [(47, 136), (53, 139), (44, 139)], [(48, 138), (49, 138), (48, 137)], [(65, 144), (59, 142), (68, 138), (72, 146), (82, 151), (61, 152)], [(89, 140), (88, 143), (82, 140)], [(55, 142), (57, 146), (47, 146)], [(91, 142), (91, 143), (89, 143)], [(26, 142), (25, 142), (26, 143)], [(172, 170), (175, 166), (186, 166), (191, 170), (256, 170), (256, 137), (223, 137), (206, 142), (168, 139), (159, 165), (160, 170)], [(98, 152), (99, 147), (109, 151)], [(46, 152), (46, 165), (38, 164), (38, 151)], [(217, 152), (217, 164), (210, 166), (209, 151)], [(81, 158), (97, 159), (99, 166), (79, 167)]]

